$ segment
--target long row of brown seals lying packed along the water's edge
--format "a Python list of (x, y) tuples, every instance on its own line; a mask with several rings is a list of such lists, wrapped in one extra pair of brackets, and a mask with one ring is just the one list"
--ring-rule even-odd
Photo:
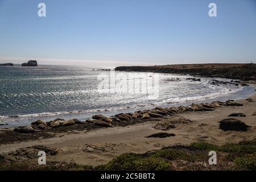
[(32, 126), (18, 127), (15, 128), (14, 131), (18, 131), (19, 133), (35, 133), (42, 130), (55, 129), (57, 127), (72, 126), (76, 124), (78, 125), (82, 123), (91, 123), (93, 125), (102, 127), (113, 127), (114, 122), (161, 118), (185, 111), (212, 111), (217, 107), (221, 106), (242, 106), (242, 104), (233, 102), (232, 100), (228, 100), (226, 102), (213, 101), (211, 104), (201, 103), (191, 104), (189, 106), (155, 107), (154, 109), (139, 110), (135, 111), (134, 113), (119, 113), (111, 117), (96, 114), (93, 115), (92, 118), (87, 119), (86, 121), (80, 121), (79, 119), (69, 119), (65, 121), (64, 119), (60, 118), (54, 119), (53, 121), (49, 122), (38, 120), (32, 122)]

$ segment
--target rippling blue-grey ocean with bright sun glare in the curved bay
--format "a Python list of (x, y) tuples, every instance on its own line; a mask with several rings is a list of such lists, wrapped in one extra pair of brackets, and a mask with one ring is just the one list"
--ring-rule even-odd
[[(99, 90), (102, 83), (99, 75), (100, 78), (102, 75), (110, 78), (111, 72), (97, 69), (106, 68), (60, 65), (0, 67), (0, 121), (9, 123), (10, 127), (28, 125), (36, 119), (84, 120), (95, 113), (112, 115), (156, 106), (240, 99), (255, 92), (250, 86), (212, 84), (213, 79), (230, 81), (224, 78), (201, 78), (201, 81), (191, 81), (187, 80), (191, 77), (187, 75), (141, 73), (146, 74), (146, 80), (158, 76), (157, 97), (149, 99), (148, 93), (143, 92), (102, 93)], [(129, 76), (125, 76), (129, 74), (127, 72), (115, 74), (124, 75), (122, 78), (127, 82), (133, 81)], [(138, 80), (142, 84), (145, 81), (141, 76), (138, 76)], [(118, 80), (115, 84), (118, 85)]]

